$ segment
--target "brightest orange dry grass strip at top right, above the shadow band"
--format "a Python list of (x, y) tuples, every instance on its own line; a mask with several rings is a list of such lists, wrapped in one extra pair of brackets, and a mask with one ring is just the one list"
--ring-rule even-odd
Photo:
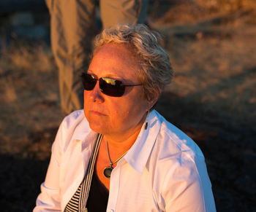
[(155, 1), (155, 7), (152, 7), (149, 17), (153, 17), (154, 21), (165, 25), (195, 23), (216, 15), (227, 15), (241, 10), (254, 11), (254, 15), (250, 17), (251, 21), (254, 21), (256, 17), (256, 1), (254, 0), (183, 0), (174, 2), (173, 7), (166, 7), (159, 1)]

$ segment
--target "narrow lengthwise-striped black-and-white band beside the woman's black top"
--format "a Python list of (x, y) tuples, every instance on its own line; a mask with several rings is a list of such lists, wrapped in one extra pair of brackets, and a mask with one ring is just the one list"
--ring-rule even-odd
[(86, 203), (87, 203), (87, 199), (89, 197), (89, 192), (90, 192), (90, 187), (91, 187), (91, 178), (94, 173), (94, 165), (95, 165), (95, 162), (97, 159), (97, 154), (99, 152), (99, 145), (100, 145), (100, 142), (102, 141), (102, 137), (103, 137), (102, 134), (98, 134), (97, 141), (94, 144), (94, 149), (91, 154), (88, 168), (86, 170), (86, 176), (83, 180), (80, 198), (79, 198), (79, 209), (78, 209), (79, 212), (87, 211)]

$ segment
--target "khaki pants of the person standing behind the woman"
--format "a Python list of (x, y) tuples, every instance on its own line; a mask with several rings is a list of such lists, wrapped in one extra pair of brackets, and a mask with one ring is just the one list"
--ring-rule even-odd
[[(59, 68), (61, 109), (83, 108), (80, 74), (86, 71), (94, 33), (95, 0), (45, 0), (50, 12), (53, 55)], [(144, 23), (148, 0), (102, 0), (103, 28), (116, 23)]]

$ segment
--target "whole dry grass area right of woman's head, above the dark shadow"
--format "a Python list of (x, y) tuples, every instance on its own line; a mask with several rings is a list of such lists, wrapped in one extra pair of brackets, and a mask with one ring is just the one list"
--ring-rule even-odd
[(164, 16), (152, 22), (152, 27), (165, 36), (164, 45), (176, 72), (167, 91), (186, 102), (201, 103), (210, 110), (230, 114), (241, 124), (247, 122), (255, 127), (256, 25), (252, 19), (256, 18), (256, 10), (253, 9), (256, 2), (249, 0), (207, 1), (207, 4), (185, 1), (170, 7)]

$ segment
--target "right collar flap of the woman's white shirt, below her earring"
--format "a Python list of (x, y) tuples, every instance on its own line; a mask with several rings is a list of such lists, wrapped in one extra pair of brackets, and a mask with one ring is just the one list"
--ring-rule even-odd
[(135, 144), (124, 156), (129, 165), (132, 166), (138, 173), (142, 174), (148, 161), (149, 154), (154, 146), (154, 142), (157, 139), (157, 135), (160, 129), (160, 122), (157, 117), (157, 111), (153, 110), (148, 115), (148, 127), (145, 130), (146, 123), (141, 127), (138, 138)]

